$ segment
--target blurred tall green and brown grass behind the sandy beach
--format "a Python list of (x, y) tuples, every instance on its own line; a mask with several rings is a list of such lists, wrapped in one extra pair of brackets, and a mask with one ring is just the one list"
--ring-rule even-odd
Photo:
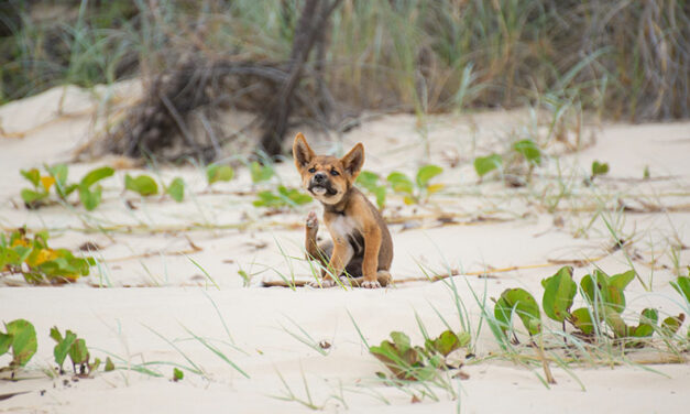
[[(328, 2), (4, 1), (0, 102), (55, 85), (91, 87), (186, 70), (178, 89), (195, 78), (196, 89), (215, 90), (200, 105), (262, 110), (277, 87), (254, 84), (271, 78), (280, 85), (280, 76), (266, 74), (289, 73), (310, 1)], [(303, 119), (343, 129), (347, 115), (362, 110), (434, 113), (563, 101), (614, 120), (690, 116), (688, 1), (331, 4), (299, 77), (302, 105), (291, 100)], [(336, 118), (319, 115), (333, 108)]]

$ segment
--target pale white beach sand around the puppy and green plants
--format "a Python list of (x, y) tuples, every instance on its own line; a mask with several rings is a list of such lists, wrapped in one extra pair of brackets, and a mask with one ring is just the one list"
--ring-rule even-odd
[[(130, 86), (121, 91), (131, 96), (131, 89)], [(22, 225), (30, 229), (48, 227), (55, 247), (76, 250), (85, 241), (92, 241), (103, 248), (96, 253), (102, 260), (101, 271), (92, 269), (90, 276), (74, 285), (9, 287), (9, 284), (22, 284), (21, 277), (0, 279), (0, 319), (26, 318), (39, 333), (39, 352), (20, 374), (26, 380), (0, 382), (0, 394), (30, 392), (0, 401), (0, 412), (310, 411), (298, 403), (272, 397), (285, 395), (278, 372), (299, 397), (306, 399), (304, 373), (314, 403), (328, 412), (347, 408), (355, 413), (454, 412), (460, 407), (463, 413), (508, 410), (517, 413), (584, 410), (671, 413), (686, 411), (690, 403), (687, 392), (690, 366), (687, 363), (651, 364), (646, 367), (649, 370), (639, 366), (613, 369), (573, 366), (570, 372), (552, 367), (558, 383), (549, 390), (536, 377), (536, 373), (541, 374), (540, 369), (530, 371), (511, 362), (484, 361), (463, 368), (469, 380), (453, 382), (456, 389), (461, 389), (460, 399), (453, 400), (446, 391), (434, 389), (438, 402), (425, 397), (420, 404), (412, 404), (409, 395), (375, 382), (375, 372), (385, 368), (366, 352), (348, 312), (370, 344), (385, 339), (392, 330), (403, 330), (413, 342), (419, 344), (421, 335), (415, 313), (431, 335), (445, 329), (431, 304), (453, 328), (460, 328), (448, 281), (347, 292), (260, 287), (262, 280), (280, 280), (278, 273), (289, 275), (294, 271), (298, 277), (308, 273), (306, 263), (286, 260), (281, 248), (289, 257), (302, 255), (302, 220), (309, 209), (319, 207), (311, 205), (299, 211), (263, 217), (263, 210), (251, 206), (253, 197), (233, 193), (252, 189), (244, 168), (238, 171), (236, 181), (215, 185), (216, 194), (206, 190), (201, 171), (164, 168), (161, 174), (165, 182), (183, 176), (194, 190), (195, 195), (183, 204), (157, 197), (140, 200), (131, 193), (123, 195), (124, 174), (138, 172), (118, 171), (114, 178), (103, 183), (103, 204), (89, 215), (84, 215), (81, 207), (24, 209), (19, 192), (28, 183), (21, 178), (19, 170), (68, 160), (75, 145), (90, 133), (91, 99), (95, 99), (92, 94), (76, 88), (54, 89), (0, 108), (0, 126), (9, 137), (0, 139), (0, 179), (3, 183), (0, 225), (6, 229)], [(63, 113), (72, 116), (59, 115), (61, 100)], [(686, 206), (677, 213), (604, 214), (621, 237), (634, 240), (628, 252), (640, 258), (634, 262), (635, 269), (643, 281), (653, 286), (653, 293), (646, 293), (638, 281), (631, 284), (626, 291), (631, 315), (646, 306), (658, 307), (664, 315), (682, 312), (679, 296), (668, 284), (673, 279), (675, 264), (669, 246), (690, 244), (689, 122), (605, 126), (596, 132), (595, 145), (558, 161), (551, 159), (538, 168), (540, 176), (535, 178), (532, 188), (507, 189), (496, 181), (478, 185), (471, 161), (475, 154), (505, 148), (510, 132), (525, 131), (527, 112), (430, 117), (427, 121), (431, 160), (446, 168), (438, 182), (447, 184), (449, 194), (432, 197), (429, 206), (416, 209), (404, 207), (398, 197), (391, 197), (387, 215), (413, 217), (407, 220), (407, 228), (391, 226), (395, 244), (393, 274), (397, 280), (423, 276), (419, 265), (439, 273), (447, 272), (448, 268), (461, 273), (489, 270), (490, 279), (452, 279), (475, 329), (480, 309), (470, 288), (480, 295), (486, 290), (489, 297), (497, 297), (504, 288), (522, 286), (540, 299), (539, 281), (559, 268), (549, 265), (549, 260), (604, 257), (595, 264), (610, 274), (627, 270), (623, 252), (607, 253), (613, 239), (603, 220), (591, 222), (598, 206), (615, 207), (616, 197), (621, 197), (632, 208), (643, 208), (644, 204)], [(362, 141), (368, 155), (365, 170), (381, 174), (393, 170), (409, 173), (425, 160), (425, 142), (416, 130), (414, 117), (384, 117), (348, 133), (341, 148), (347, 150)], [(23, 138), (15, 138), (25, 131)], [(314, 134), (308, 138), (322, 151), (340, 146), (317, 141)], [(549, 148), (547, 151), (561, 150)], [(448, 166), (445, 161), (448, 154), (457, 154), (458, 167)], [(609, 162), (611, 173), (609, 177), (598, 178), (598, 187), (584, 187), (582, 177), (593, 160)], [(70, 177), (76, 181), (89, 168), (108, 162), (73, 164)], [(623, 179), (640, 178), (645, 166), (649, 167), (653, 178), (672, 177), (647, 182)], [(544, 176), (557, 174), (559, 167), (563, 183), (577, 197), (562, 200), (558, 205), (560, 210), (551, 215), (546, 203), (537, 201), (558, 194), (558, 182)], [(289, 162), (278, 166), (278, 174), (289, 186), (299, 183)], [(124, 199), (132, 200), (139, 208), (129, 210)], [(573, 211), (578, 209), (584, 211)], [(462, 225), (439, 226), (434, 219), (439, 210), (456, 214)], [(562, 219), (563, 226), (556, 226), (555, 218)], [(108, 235), (85, 232), (85, 224), (117, 229)], [(232, 228), (237, 224), (249, 225), (245, 229)], [(189, 229), (193, 225), (210, 226), (210, 229)], [(124, 226), (130, 226), (131, 232), (125, 232)], [(152, 232), (152, 228), (179, 231)], [(679, 240), (673, 239), (676, 235)], [(201, 250), (195, 252), (190, 241)], [(185, 254), (202, 265), (220, 290)], [(657, 260), (654, 270), (646, 264), (651, 259)], [(689, 262), (688, 250), (681, 250), (678, 263), (684, 266)], [(511, 266), (519, 269), (502, 271)], [(251, 287), (242, 287), (240, 269), (258, 273)], [(577, 268), (576, 281), (592, 269), (592, 264)], [(90, 287), (98, 285), (111, 287)], [(213, 303), (237, 349), (228, 345), (230, 339)], [(286, 330), (299, 334), (294, 324), (315, 340), (332, 344), (329, 353), (321, 356), (292, 337)], [(213, 344), (251, 379), (242, 377), (195, 340), (176, 345), (204, 369), (208, 379), (187, 372), (182, 382), (174, 383), (168, 380), (172, 368), (161, 366), (153, 368), (165, 378), (117, 370), (99, 372), (94, 379), (78, 382), (69, 381), (69, 375), (50, 379), (42, 369), (50, 367), (53, 358), (53, 341), (47, 334), (54, 325), (78, 333), (91, 347), (91, 353), (101, 359), (106, 352), (111, 352), (131, 363), (168, 361), (188, 366), (169, 344), (146, 328), (172, 340), (190, 338), (186, 327), (200, 337), (217, 340)], [(497, 345), (484, 325), (477, 339), (478, 356), (486, 357), (496, 350)], [(7, 356), (0, 357), (0, 366), (6, 363)], [(68, 380), (66, 384), (64, 380)], [(384, 397), (390, 405), (375, 395)]]

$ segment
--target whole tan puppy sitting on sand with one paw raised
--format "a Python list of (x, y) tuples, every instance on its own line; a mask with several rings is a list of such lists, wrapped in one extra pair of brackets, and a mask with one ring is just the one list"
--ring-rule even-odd
[(342, 159), (316, 155), (298, 133), (293, 155), (304, 187), (324, 205), (324, 221), (332, 240), (317, 243), (318, 219), (311, 211), (305, 226), (305, 248), (309, 259), (328, 269), (321, 274), (321, 285), (332, 286), (330, 274), (343, 272), (354, 286), (387, 285), (393, 261), (391, 233), (379, 210), (353, 186), (364, 164), (363, 145), (358, 143)]

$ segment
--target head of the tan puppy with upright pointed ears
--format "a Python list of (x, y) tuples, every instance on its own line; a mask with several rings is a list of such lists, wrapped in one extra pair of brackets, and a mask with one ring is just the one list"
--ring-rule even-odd
[(293, 156), (304, 187), (324, 204), (338, 204), (362, 170), (364, 146), (358, 143), (342, 159), (316, 155), (299, 132), (293, 144)]

